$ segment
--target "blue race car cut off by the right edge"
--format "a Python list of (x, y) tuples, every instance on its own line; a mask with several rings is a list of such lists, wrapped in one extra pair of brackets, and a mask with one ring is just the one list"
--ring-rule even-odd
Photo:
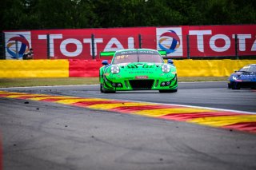
[(229, 89), (256, 89), (256, 64), (246, 65), (229, 77)]

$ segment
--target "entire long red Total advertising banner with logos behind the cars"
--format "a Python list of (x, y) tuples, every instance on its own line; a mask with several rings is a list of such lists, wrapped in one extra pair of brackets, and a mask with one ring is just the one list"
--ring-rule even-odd
[(167, 56), (173, 58), (186, 58), (188, 55), (256, 55), (256, 25), (24, 30), (4, 33), (6, 59), (21, 59), (30, 48), (34, 49), (34, 59), (47, 59), (49, 56), (51, 59), (90, 60), (93, 56), (99, 58), (102, 51), (139, 47), (166, 50)]

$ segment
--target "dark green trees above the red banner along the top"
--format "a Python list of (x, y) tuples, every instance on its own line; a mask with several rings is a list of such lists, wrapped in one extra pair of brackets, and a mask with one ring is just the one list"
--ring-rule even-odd
[(2, 0), (0, 30), (255, 24), (254, 0)]

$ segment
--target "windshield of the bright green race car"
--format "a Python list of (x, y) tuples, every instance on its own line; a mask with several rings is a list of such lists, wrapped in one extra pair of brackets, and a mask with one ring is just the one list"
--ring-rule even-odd
[(156, 51), (122, 51), (114, 56), (112, 64), (130, 62), (163, 63), (162, 56)]

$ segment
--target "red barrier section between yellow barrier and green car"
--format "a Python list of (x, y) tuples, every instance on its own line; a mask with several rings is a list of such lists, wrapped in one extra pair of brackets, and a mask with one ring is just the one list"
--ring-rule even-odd
[(98, 77), (100, 60), (69, 60), (70, 77)]

